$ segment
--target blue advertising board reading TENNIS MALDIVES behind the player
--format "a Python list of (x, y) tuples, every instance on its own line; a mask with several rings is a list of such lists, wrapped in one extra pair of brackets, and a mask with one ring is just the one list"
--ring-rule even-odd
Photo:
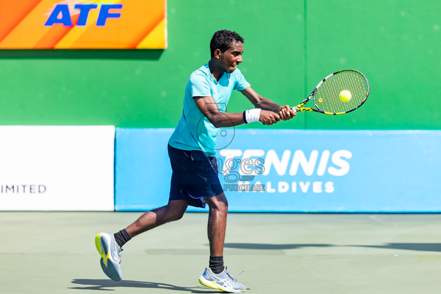
[[(172, 132), (116, 130), (116, 210), (167, 204)], [(232, 212), (441, 212), (440, 147), (431, 130), (228, 128), (216, 144)]]

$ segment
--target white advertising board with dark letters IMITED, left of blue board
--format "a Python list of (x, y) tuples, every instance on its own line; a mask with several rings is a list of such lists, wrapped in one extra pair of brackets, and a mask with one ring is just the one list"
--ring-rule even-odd
[(114, 126), (0, 126), (0, 210), (114, 210)]

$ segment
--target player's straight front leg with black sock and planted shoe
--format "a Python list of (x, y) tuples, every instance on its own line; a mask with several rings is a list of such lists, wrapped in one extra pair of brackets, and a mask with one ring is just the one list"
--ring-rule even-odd
[(228, 201), (222, 192), (213, 197), (204, 198), (209, 206), (208, 239), (210, 242), (209, 268), (199, 277), (204, 286), (225, 292), (245, 292), (246, 287), (230, 275), (224, 266), (224, 240), (227, 226)]

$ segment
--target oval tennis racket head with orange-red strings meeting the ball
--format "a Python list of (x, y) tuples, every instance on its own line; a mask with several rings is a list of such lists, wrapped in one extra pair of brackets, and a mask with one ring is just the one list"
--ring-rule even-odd
[[(352, 98), (348, 102), (340, 100), (340, 92), (348, 90)], [(345, 69), (329, 74), (314, 90), (315, 106), (329, 115), (351, 112), (366, 102), (369, 96), (369, 82), (364, 74), (353, 69)]]

